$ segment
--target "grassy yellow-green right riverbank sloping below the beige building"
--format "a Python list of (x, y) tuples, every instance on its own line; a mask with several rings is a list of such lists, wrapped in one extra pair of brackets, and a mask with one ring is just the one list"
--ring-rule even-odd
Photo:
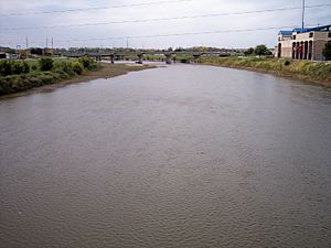
[(258, 57), (201, 57), (200, 64), (273, 73), (331, 88), (331, 63)]

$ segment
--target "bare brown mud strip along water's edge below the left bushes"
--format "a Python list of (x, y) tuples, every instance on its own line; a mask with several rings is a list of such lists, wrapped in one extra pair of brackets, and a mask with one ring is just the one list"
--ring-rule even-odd
[(99, 65), (100, 65), (100, 68), (98, 68), (96, 71), (86, 71), (82, 75), (75, 75), (71, 78), (61, 79), (61, 80), (55, 82), (50, 85), (43, 85), (40, 87), (33, 87), (33, 88), (30, 88), (30, 89), (26, 89), (23, 91), (2, 95), (2, 96), (0, 96), (0, 100), (20, 97), (20, 96), (26, 96), (26, 95), (34, 94), (34, 93), (46, 93), (46, 91), (54, 90), (56, 88), (62, 88), (62, 87), (64, 87), (66, 85), (71, 85), (71, 84), (79, 84), (79, 83), (95, 80), (95, 79), (99, 79), (99, 78), (107, 79), (107, 78), (111, 78), (111, 77), (121, 76), (121, 75), (128, 74), (130, 72), (139, 72), (139, 71), (143, 71), (143, 69), (157, 67), (153, 65), (109, 64), (109, 63), (105, 63), (105, 62), (100, 62)]

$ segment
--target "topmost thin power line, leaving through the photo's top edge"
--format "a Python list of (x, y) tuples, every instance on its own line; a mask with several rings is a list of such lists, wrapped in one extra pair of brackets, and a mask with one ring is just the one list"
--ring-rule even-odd
[(156, 1), (156, 2), (140, 2), (140, 3), (130, 3), (130, 4), (121, 4), (121, 6), (105, 6), (105, 7), (79, 8), (79, 9), (70, 9), (70, 10), (52, 10), (52, 11), (40, 11), (40, 12), (15, 12), (15, 13), (0, 14), (0, 18), (17, 17), (17, 15), (36, 15), (36, 14), (50, 14), (50, 13), (96, 11), (96, 10), (105, 10), (105, 9), (119, 9), (119, 8), (128, 8), (128, 7), (154, 6), (154, 4), (167, 4), (167, 3), (191, 2), (191, 1), (194, 1), (194, 0), (163, 0), (163, 1)]

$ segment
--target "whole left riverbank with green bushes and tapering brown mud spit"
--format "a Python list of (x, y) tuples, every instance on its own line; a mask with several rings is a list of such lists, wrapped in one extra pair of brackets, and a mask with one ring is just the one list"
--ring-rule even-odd
[[(96, 78), (108, 78), (124, 75), (128, 72), (151, 68), (148, 65), (125, 65), (95, 62), (79, 62), (77, 60), (57, 60), (49, 71), (38, 67), (38, 61), (17, 62), (30, 69), (21, 73), (11, 72), (10, 75), (0, 76), (0, 96), (18, 95), (26, 90), (44, 90), (64, 86), (66, 84), (87, 82)], [(81, 63), (81, 64), (79, 64)], [(14, 67), (20, 65), (13, 64)], [(20, 71), (20, 69), (19, 69)]]

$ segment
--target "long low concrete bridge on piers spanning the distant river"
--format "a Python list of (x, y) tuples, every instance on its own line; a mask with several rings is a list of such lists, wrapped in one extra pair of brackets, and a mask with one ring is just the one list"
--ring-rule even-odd
[[(205, 56), (229, 56), (229, 53), (222, 52), (114, 52), (114, 53), (65, 53), (62, 54), (66, 57), (83, 57), (88, 56), (95, 58), (96, 61), (109, 60), (111, 64), (115, 61), (125, 60), (125, 57), (138, 57), (138, 64), (142, 64), (142, 58), (145, 55), (163, 55), (166, 57), (166, 63), (171, 64), (172, 60), (175, 60), (175, 56), (193, 56), (194, 61), (199, 57)], [(181, 60), (183, 62), (190, 62), (190, 60)]]

